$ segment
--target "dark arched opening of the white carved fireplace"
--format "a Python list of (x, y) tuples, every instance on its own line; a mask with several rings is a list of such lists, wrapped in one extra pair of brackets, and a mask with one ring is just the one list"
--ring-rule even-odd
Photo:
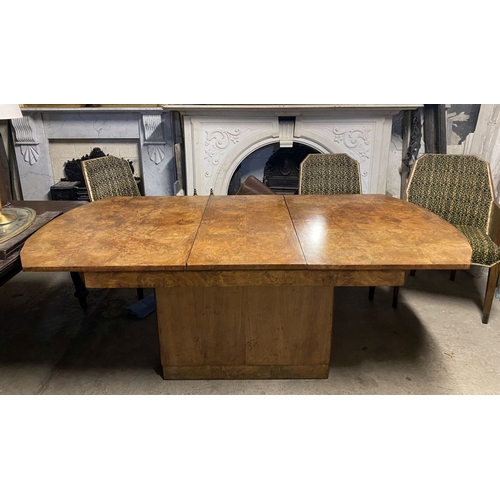
[(297, 194), (300, 163), (313, 153), (321, 151), (296, 142), (291, 148), (280, 148), (279, 143), (263, 146), (238, 165), (227, 194), (236, 194), (241, 183), (250, 175), (257, 177), (276, 194)]

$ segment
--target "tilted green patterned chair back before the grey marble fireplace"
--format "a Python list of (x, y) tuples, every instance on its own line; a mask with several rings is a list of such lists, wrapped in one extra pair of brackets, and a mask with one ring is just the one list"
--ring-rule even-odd
[(141, 196), (130, 164), (123, 158), (103, 156), (82, 161), (90, 201), (110, 196)]

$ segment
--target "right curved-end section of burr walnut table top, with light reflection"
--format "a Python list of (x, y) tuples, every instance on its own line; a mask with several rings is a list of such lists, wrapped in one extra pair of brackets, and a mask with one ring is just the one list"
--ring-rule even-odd
[(309, 269), (467, 269), (465, 236), (383, 195), (286, 196)]

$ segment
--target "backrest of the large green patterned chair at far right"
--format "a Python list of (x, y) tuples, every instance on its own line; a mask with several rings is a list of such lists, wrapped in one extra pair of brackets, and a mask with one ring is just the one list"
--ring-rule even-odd
[(425, 154), (413, 166), (408, 201), (454, 225), (487, 231), (494, 199), (489, 165), (476, 156)]

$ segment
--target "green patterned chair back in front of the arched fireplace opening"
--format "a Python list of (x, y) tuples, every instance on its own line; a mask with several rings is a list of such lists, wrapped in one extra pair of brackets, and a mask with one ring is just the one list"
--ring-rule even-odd
[(307, 155), (300, 164), (299, 194), (361, 194), (359, 163), (345, 153)]

